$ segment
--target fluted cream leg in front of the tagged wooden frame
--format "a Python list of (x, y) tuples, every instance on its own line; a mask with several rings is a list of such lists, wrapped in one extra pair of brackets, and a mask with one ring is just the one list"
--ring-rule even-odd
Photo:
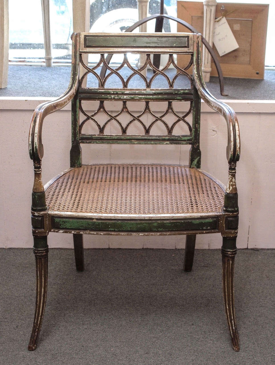
[[(213, 31), (214, 31), (214, 20), (216, 13), (216, 0), (204, 0), (204, 38), (212, 47), (213, 44)], [(205, 46), (202, 47), (202, 75), (204, 81), (210, 80), (211, 72), (211, 55)]]

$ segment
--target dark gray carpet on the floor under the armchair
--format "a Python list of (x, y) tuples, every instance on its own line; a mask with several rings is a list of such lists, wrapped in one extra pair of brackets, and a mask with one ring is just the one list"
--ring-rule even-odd
[[(220, 250), (51, 249), (38, 347), (27, 350), (35, 303), (31, 249), (0, 250), (0, 364), (274, 364), (275, 250), (239, 250), (235, 300), (240, 352), (222, 303)], [(273, 281), (273, 282), (272, 282)]]

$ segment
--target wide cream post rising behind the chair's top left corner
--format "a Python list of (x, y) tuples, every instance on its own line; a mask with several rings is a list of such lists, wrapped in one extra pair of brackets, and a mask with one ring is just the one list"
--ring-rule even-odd
[[(90, 0), (73, 0), (73, 31), (89, 32), (90, 31)], [(82, 55), (83, 62), (88, 65), (88, 54)], [(86, 70), (80, 65), (80, 77)], [(82, 87), (85, 88), (87, 80), (83, 80)]]

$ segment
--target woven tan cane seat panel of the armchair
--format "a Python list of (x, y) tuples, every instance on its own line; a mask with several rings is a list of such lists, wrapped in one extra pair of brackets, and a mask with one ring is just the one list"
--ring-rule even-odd
[(169, 215), (221, 212), (224, 192), (196, 169), (175, 165), (87, 165), (46, 190), (50, 211)]

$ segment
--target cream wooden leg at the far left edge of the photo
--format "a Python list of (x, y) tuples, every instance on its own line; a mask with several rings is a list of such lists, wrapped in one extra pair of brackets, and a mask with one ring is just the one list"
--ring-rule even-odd
[(8, 84), (9, 2), (0, 0), (0, 89)]

